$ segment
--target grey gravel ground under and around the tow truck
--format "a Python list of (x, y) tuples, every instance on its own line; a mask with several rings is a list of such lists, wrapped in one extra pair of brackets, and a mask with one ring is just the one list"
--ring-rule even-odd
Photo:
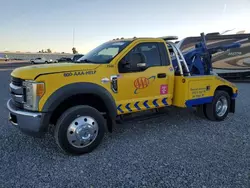
[(250, 187), (250, 85), (221, 124), (190, 110), (119, 125), (92, 153), (62, 154), (50, 136), (7, 121), (10, 71), (0, 71), (0, 187)]

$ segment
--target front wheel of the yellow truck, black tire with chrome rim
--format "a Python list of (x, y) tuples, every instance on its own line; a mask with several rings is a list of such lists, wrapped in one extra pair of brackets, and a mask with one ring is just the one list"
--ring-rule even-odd
[(102, 141), (105, 119), (90, 106), (75, 106), (59, 118), (54, 137), (60, 149), (68, 154), (81, 155), (93, 151)]

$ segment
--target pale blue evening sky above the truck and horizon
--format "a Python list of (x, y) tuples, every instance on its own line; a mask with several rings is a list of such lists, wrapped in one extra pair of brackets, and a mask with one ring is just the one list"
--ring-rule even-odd
[(9, 0), (0, 7), (0, 51), (71, 52), (73, 28), (81, 53), (117, 37), (250, 32), (250, 0)]

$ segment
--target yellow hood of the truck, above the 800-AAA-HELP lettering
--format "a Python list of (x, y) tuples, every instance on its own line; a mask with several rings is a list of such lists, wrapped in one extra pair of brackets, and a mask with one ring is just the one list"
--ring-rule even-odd
[(77, 70), (92, 70), (96, 69), (99, 64), (90, 63), (58, 63), (58, 64), (43, 64), (30, 65), (21, 68), (16, 68), (12, 71), (11, 76), (26, 80), (34, 80), (38, 75), (47, 73), (60, 73)]

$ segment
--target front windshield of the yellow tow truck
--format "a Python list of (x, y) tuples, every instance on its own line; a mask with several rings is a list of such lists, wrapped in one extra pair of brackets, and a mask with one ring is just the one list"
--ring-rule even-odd
[(79, 58), (77, 62), (107, 64), (119, 54), (130, 41), (106, 42)]

